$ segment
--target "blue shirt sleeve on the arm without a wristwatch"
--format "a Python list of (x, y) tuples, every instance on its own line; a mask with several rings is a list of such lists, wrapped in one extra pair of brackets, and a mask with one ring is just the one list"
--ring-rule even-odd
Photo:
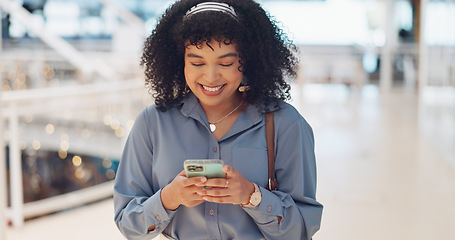
[[(144, 110), (125, 144), (114, 186), (115, 223), (127, 239), (152, 239), (169, 224), (175, 211), (161, 203), (152, 184), (153, 145)], [(155, 225), (153, 231), (148, 231)]]

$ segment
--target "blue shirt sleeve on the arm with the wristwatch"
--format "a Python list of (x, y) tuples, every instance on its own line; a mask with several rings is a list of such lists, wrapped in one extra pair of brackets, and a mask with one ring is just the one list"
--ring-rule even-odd
[[(275, 125), (277, 126), (277, 125)], [(319, 230), (322, 205), (316, 201), (313, 131), (299, 120), (275, 129), (277, 191), (261, 187), (262, 201), (244, 208), (267, 239), (310, 239)]]

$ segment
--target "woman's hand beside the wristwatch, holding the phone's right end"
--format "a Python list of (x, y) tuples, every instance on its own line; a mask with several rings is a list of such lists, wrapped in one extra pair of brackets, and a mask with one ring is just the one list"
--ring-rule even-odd
[(197, 194), (208, 202), (247, 204), (250, 195), (254, 192), (253, 183), (246, 180), (231, 166), (224, 165), (223, 171), (226, 173), (226, 178), (213, 178), (197, 183), (196, 186), (209, 188), (202, 188)]

